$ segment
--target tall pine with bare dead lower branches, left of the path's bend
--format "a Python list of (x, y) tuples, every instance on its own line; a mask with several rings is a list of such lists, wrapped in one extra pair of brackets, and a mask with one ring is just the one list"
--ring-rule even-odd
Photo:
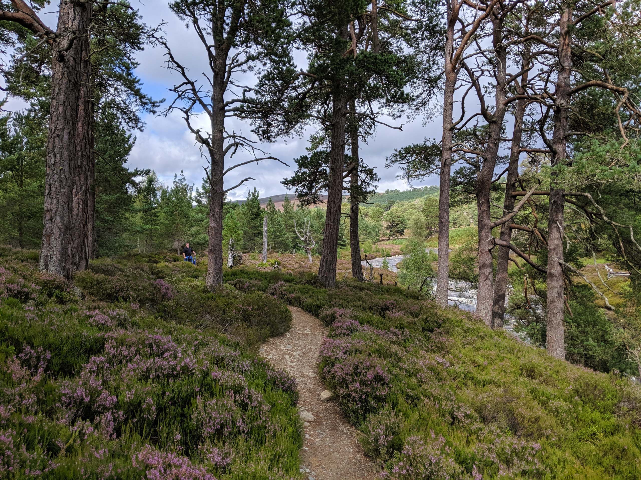
[[(287, 22), (282, 18), (279, 0), (259, 2), (239, 0), (232, 3), (217, 3), (206, 0), (192, 3), (178, 0), (171, 9), (178, 18), (186, 22), (196, 32), (201, 48), (206, 53), (210, 72), (202, 75), (188, 70), (187, 65), (178, 60), (165, 38), (156, 42), (165, 51), (165, 67), (177, 74), (180, 83), (169, 90), (174, 100), (163, 114), (179, 111), (187, 128), (200, 144), (201, 153), (208, 157), (209, 166), (204, 167), (210, 185), (209, 195), (209, 245), (210, 259), (205, 284), (208, 289), (222, 285), (222, 202), (226, 193), (238, 188), (247, 180), (224, 188), (224, 176), (240, 166), (259, 163), (276, 157), (256, 147), (256, 141), (226, 129), (226, 118), (238, 116), (241, 104), (251, 103), (254, 90), (238, 83), (237, 76), (255, 61), (269, 61), (272, 43), (261, 34), (279, 35), (287, 30)], [(269, 25), (265, 32), (264, 26)], [(271, 37), (270, 37), (271, 38)], [(274, 40), (276, 41), (276, 40)], [(204, 115), (208, 120), (208, 132), (194, 125), (195, 116)], [(225, 159), (238, 152), (245, 152), (247, 159), (226, 166)], [(285, 164), (284, 162), (281, 162)]]

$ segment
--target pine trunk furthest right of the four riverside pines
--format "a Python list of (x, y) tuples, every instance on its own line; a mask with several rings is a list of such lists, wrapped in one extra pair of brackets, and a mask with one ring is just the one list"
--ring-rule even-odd
[(563, 189), (557, 166), (565, 163), (569, 132), (570, 74), (572, 68), (572, 6), (565, 4), (559, 22), (560, 71), (556, 83), (556, 109), (552, 135), (552, 172), (547, 224), (547, 353), (565, 358), (565, 305), (563, 302)]

